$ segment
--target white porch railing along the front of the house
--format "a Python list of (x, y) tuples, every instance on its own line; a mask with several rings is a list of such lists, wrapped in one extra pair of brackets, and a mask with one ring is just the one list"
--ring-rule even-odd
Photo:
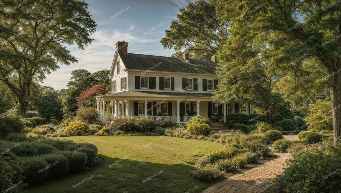
[[(180, 116), (180, 121), (177, 120), (177, 116), (124, 116), (120, 118), (127, 118), (133, 121), (142, 120), (142, 119), (150, 119), (155, 123), (161, 123), (162, 121), (173, 121), (173, 122), (180, 122), (180, 123), (187, 123), (190, 119), (194, 116)], [(112, 114), (105, 115), (105, 122), (109, 122), (114, 120), (114, 116)], [(102, 115), (99, 115), (99, 119), (103, 121)]]

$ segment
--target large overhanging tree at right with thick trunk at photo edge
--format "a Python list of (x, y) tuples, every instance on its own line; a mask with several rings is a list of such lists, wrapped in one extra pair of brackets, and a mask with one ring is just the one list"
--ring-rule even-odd
[[(341, 1), (219, 0), (217, 8), (220, 19), (231, 24), (233, 43), (261, 45), (260, 55), (274, 70), (302, 69), (308, 60), (324, 69), (327, 76), (322, 80), (329, 85), (334, 139), (340, 137)], [(241, 36), (241, 31), (249, 35)]]

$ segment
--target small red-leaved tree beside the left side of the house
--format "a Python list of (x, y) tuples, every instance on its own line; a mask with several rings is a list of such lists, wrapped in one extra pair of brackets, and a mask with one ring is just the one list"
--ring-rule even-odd
[(89, 86), (86, 90), (82, 91), (79, 97), (76, 97), (78, 107), (96, 107), (97, 95), (106, 94), (108, 91), (100, 84)]

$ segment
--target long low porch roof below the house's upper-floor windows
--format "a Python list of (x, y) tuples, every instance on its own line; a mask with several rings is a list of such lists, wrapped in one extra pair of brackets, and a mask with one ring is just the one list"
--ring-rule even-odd
[(152, 98), (165, 98), (165, 97), (202, 97), (211, 98), (211, 93), (188, 93), (188, 92), (152, 92), (152, 91), (123, 91), (119, 93), (110, 93), (105, 95), (96, 96), (95, 98), (122, 98), (122, 97), (152, 97)]

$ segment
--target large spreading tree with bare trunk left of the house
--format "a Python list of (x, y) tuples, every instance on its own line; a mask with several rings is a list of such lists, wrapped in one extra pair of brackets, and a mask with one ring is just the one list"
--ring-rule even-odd
[(59, 64), (77, 62), (65, 45), (84, 49), (96, 24), (80, 0), (2, 0), (0, 3), (0, 81), (26, 116), (33, 81), (45, 79)]

